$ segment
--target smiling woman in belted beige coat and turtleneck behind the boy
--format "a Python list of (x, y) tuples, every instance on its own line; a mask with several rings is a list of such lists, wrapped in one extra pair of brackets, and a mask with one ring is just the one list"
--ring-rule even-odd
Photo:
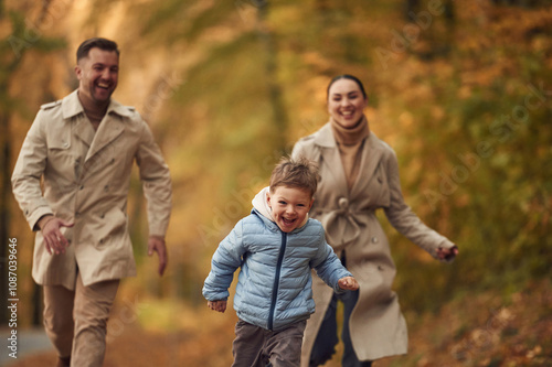
[(305, 332), (301, 367), (331, 358), (337, 336), (337, 302), (344, 304), (342, 366), (371, 361), (407, 350), (406, 324), (391, 290), (395, 266), (375, 209), (413, 242), (442, 260), (452, 260), (457, 247), (424, 225), (404, 203), (394, 151), (370, 131), (364, 108), (368, 97), (354, 76), (341, 75), (328, 86), (330, 121), (302, 138), (294, 158), (319, 164), (321, 181), (310, 211), (322, 223), (328, 242), (360, 284), (340, 296), (315, 277), (317, 312)]

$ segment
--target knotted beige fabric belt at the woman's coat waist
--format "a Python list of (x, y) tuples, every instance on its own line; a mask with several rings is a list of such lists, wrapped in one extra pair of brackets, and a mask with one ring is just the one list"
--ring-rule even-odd
[[(349, 199), (341, 197), (338, 202), (338, 209), (318, 208), (317, 211), (325, 215), (320, 219), (326, 229), (326, 239), (333, 248), (344, 248), (354, 242), (360, 237), (360, 226), (357, 222), (358, 216), (374, 214), (374, 209), (353, 211), (349, 206)], [(340, 223), (344, 219), (352, 227), (352, 231), (344, 231), (344, 227), (340, 228)]]

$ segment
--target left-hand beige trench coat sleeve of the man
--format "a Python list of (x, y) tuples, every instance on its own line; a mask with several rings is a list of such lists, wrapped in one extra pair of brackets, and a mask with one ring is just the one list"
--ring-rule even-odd
[(41, 177), (47, 158), (44, 114), (44, 110), (40, 110), (36, 115), (23, 141), (11, 176), (13, 195), (32, 230), (39, 229), (36, 223), (42, 216), (53, 214), (41, 190)]

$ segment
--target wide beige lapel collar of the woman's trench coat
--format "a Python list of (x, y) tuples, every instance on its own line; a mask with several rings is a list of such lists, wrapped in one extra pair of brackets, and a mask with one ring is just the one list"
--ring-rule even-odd
[[(331, 131), (330, 122), (321, 127), (315, 134), (315, 143), (321, 148), (328, 148), (328, 150), (323, 153), (329, 163), (328, 168), (338, 181), (339, 187), (342, 187), (344, 192), (348, 192), (343, 164), (341, 162), (341, 156), (339, 155), (336, 138)], [(373, 176), (384, 150), (385, 147), (383, 142), (373, 133), (372, 130), (370, 130), (370, 134), (368, 136), (364, 142), (364, 148), (362, 149), (359, 177), (351, 187), (351, 191), (348, 192), (348, 196), (350, 198), (363, 194), (362, 190), (368, 181)]]

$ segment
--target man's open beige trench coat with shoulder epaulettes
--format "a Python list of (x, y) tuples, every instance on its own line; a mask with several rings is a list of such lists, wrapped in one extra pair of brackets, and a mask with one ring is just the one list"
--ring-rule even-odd
[(36, 231), (32, 274), (39, 284), (73, 290), (77, 269), (84, 285), (136, 274), (126, 214), (135, 160), (148, 202), (150, 235), (164, 236), (170, 173), (139, 114), (112, 100), (94, 131), (76, 90), (41, 107), (15, 163), (13, 193), (33, 230), (46, 214), (75, 225), (62, 228), (71, 241), (64, 255), (47, 253)]

